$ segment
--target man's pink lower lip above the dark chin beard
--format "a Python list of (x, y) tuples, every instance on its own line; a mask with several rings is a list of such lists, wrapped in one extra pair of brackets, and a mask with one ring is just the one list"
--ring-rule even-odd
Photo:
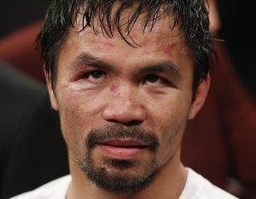
[(138, 156), (143, 149), (139, 148), (123, 148), (113, 145), (100, 145), (103, 151), (106, 151), (109, 155), (120, 159), (130, 159), (131, 157)]

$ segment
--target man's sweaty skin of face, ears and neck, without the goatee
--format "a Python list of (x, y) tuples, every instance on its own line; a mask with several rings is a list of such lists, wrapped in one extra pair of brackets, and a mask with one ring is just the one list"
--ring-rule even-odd
[[(148, 28), (144, 33), (143, 20), (137, 20), (131, 31), (138, 44), (136, 48), (125, 43), (114, 30), (113, 38), (104, 37), (100, 29), (96, 34), (91, 28), (78, 32), (79, 21), (69, 30), (61, 47), (54, 89), (48, 78), (51, 104), (60, 111), (73, 176), (67, 198), (177, 198), (186, 180), (180, 162), (183, 130), (187, 120), (195, 117), (204, 103), (209, 77), (201, 82), (192, 102), (194, 65), (181, 34), (171, 28), (172, 17), (161, 18), (153, 31)], [(137, 143), (129, 138), (114, 140), (116, 150), (96, 145), (90, 151), (96, 168), (103, 167), (110, 176), (119, 174), (124, 178), (143, 177), (148, 173), (148, 164), (155, 160), (157, 176), (144, 190), (137, 193), (102, 190), (79, 168), (78, 162), (88, 152), (84, 146), (88, 134), (112, 125), (142, 128), (158, 139), (155, 152), (147, 147), (119, 147), (118, 143), (126, 142), (123, 144), (126, 147), (129, 142)], [(113, 158), (129, 159), (136, 166), (120, 172), (119, 168), (106, 164), (105, 160)]]

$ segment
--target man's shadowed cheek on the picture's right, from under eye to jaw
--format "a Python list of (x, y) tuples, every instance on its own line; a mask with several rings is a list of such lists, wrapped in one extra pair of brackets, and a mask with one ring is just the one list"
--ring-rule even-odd
[(150, 121), (154, 132), (160, 141), (157, 159), (160, 165), (164, 164), (179, 149), (183, 130), (189, 113), (190, 103), (188, 96), (182, 93), (173, 93), (169, 97), (158, 99), (152, 107)]

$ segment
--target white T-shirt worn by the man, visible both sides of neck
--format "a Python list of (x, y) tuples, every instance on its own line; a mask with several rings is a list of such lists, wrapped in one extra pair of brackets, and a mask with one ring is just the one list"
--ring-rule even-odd
[[(187, 170), (188, 178), (178, 199), (236, 199), (235, 196), (212, 185), (191, 168), (187, 168)], [(67, 175), (11, 199), (65, 199), (70, 182), (71, 176)]]

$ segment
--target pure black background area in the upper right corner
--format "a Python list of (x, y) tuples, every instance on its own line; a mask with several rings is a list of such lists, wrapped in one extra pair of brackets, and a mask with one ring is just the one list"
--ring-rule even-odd
[(256, 102), (256, 6), (253, 0), (220, 0), (222, 20), (220, 37), (224, 38), (241, 82)]

